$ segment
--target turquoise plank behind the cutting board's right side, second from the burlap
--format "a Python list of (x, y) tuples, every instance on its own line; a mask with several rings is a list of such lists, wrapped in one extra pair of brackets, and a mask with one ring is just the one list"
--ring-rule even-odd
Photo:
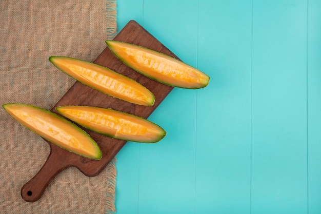
[[(196, 65), (197, 2), (144, 0), (143, 27)], [(150, 116), (167, 136), (141, 145), (139, 213), (194, 213), (195, 105), (194, 90), (174, 88)]]

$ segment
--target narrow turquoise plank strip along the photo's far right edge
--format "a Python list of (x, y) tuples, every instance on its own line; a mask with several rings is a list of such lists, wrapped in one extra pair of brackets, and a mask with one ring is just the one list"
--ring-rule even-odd
[(321, 213), (321, 2), (308, 8), (309, 213)]

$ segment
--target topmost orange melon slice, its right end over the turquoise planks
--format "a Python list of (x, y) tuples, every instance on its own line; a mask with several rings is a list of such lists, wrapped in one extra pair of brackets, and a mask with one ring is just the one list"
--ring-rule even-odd
[(166, 54), (124, 42), (106, 41), (110, 50), (143, 75), (158, 82), (180, 88), (206, 87), (210, 77), (192, 66)]

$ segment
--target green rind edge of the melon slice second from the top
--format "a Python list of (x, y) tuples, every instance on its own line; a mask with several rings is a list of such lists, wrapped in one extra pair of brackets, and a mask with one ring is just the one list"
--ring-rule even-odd
[[(60, 68), (60, 67), (59, 67), (58, 65), (56, 65), (55, 62), (54, 62), (54, 59), (56, 59), (56, 58), (58, 58), (58, 57), (67, 58), (67, 59), (72, 59), (72, 60), (77, 60), (77, 61), (81, 61), (81, 62), (90, 64), (90, 65), (94, 65), (94, 66), (99, 67), (99, 68), (103, 68), (103, 69), (105, 69), (105, 70), (108, 71), (108, 72), (112, 72), (112, 73), (115, 73), (115, 74), (117, 74), (117, 75), (119, 75), (119, 76), (125, 77), (127, 80), (133, 82), (134, 84), (139, 84), (139, 83), (137, 83), (136, 81), (130, 79), (129, 77), (127, 77), (127, 76), (125, 76), (125, 75), (123, 75), (123, 74), (121, 74), (121, 73), (117, 73), (117, 72), (115, 72), (115, 71), (113, 71), (113, 70), (111, 70), (111, 69), (109, 69), (109, 68), (104, 67), (104, 66), (100, 66), (100, 65), (97, 65), (97, 64), (94, 64), (94, 63), (90, 63), (90, 62), (87, 62), (87, 61), (75, 59), (75, 58), (68, 57), (68, 56), (50, 56), (50, 57), (49, 57), (49, 61), (50, 61), (56, 68), (58, 68), (59, 70), (61, 70), (61, 71), (64, 72), (65, 74), (67, 74), (68, 76), (72, 77), (73, 79), (75, 79), (75, 80), (83, 83), (84, 85), (87, 85), (87, 86), (89, 86), (89, 87), (91, 87), (91, 88), (93, 88), (93, 89), (95, 89), (95, 90), (97, 90), (97, 91), (100, 91), (100, 92), (102, 92), (102, 93), (104, 93), (104, 94), (107, 94), (107, 95), (109, 95), (109, 96), (112, 96), (113, 98), (117, 98), (117, 99), (119, 99), (119, 100), (123, 100), (123, 99), (121, 99), (121, 98), (118, 98), (118, 97), (116, 97), (116, 96), (113, 96), (113, 95), (107, 93), (106, 91), (99, 90), (99, 89), (91, 86), (90, 84), (86, 84), (86, 83), (82, 82), (81, 80), (78, 80), (75, 76), (72, 76), (72, 75), (70, 75), (69, 73), (65, 72), (64, 69)], [(142, 84), (139, 84), (139, 85), (143, 86)], [(143, 87), (146, 88), (145, 86), (143, 86)], [(148, 90), (148, 89), (146, 88), (146, 90)], [(148, 103), (149, 105), (147, 105), (147, 106), (152, 106), (152, 105), (154, 104), (154, 102), (155, 102), (155, 95), (154, 95), (150, 90), (148, 90), (148, 91), (150, 92), (150, 95), (152, 96), (152, 100), (151, 100), (151, 102)], [(124, 101), (130, 102), (130, 101), (127, 101), (127, 100), (124, 100)], [(134, 104), (138, 104), (138, 103), (134, 103)], [(142, 104), (138, 104), (138, 105), (142, 105)]]

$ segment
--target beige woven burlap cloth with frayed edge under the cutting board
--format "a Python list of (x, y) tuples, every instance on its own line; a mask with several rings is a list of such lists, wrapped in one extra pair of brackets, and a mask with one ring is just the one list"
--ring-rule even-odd
[[(75, 82), (51, 55), (94, 61), (116, 33), (115, 0), (0, 0), (0, 104), (51, 109)], [(21, 187), (45, 163), (50, 148), (0, 108), (0, 213), (115, 211), (115, 161), (96, 177), (74, 167), (59, 173), (41, 199), (25, 202)]]

